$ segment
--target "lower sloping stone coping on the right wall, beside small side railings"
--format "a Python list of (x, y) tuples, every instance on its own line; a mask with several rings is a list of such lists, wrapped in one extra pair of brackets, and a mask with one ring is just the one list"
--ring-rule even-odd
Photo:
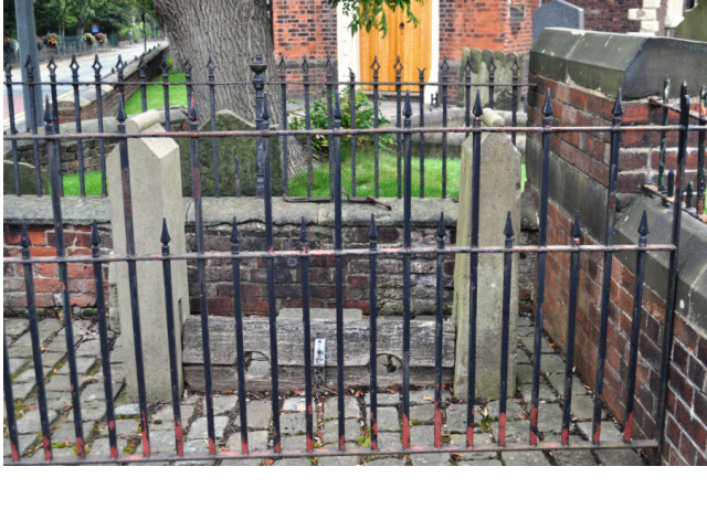
[[(616, 216), (614, 241), (618, 245), (639, 243), (637, 227), (644, 211), (648, 222), (648, 244), (672, 241), (672, 205), (665, 206), (661, 199), (641, 195)], [(615, 255), (635, 274), (634, 252)], [(680, 219), (678, 256), (675, 310), (707, 332), (707, 225), (687, 214)], [(663, 299), (667, 293), (668, 259), (669, 253), (653, 252), (646, 254), (645, 261), (645, 284)]]

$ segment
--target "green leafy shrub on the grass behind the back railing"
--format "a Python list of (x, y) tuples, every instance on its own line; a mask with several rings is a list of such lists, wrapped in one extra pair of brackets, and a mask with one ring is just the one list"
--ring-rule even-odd
[[(380, 98), (382, 100), (382, 97)], [(291, 103), (299, 104), (299, 102), (295, 102), (289, 99)], [(373, 103), (368, 98), (368, 96), (362, 91), (357, 91), (355, 96), (354, 108), (356, 109), (356, 127), (351, 127), (351, 98), (350, 91), (347, 86), (339, 93), (339, 106), (341, 108), (341, 128), (350, 129), (372, 129), (373, 128), (373, 114), (374, 107)], [(329, 110), (328, 110), (328, 102), (327, 96), (324, 95), (319, 99), (315, 99), (312, 102), (310, 107), (310, 123), (313, 129), (328, 129), (329, 128)], [(383, 116), (383, 113), (380, 108), (380, 100), (378, 104), (378, 127), (382, 128), (390, 124), (390, 120)], [(295, 115), (289, 120), (289, 128), (293, 130), (306, 130), (307, 121), (303, 114)], [(300, 138), (303, 141), (304, 137)], [(392, 147), (393, 146), (393, 137), (392, 135), (380, 135), (379, 136), (380, 146)], [(314, 135), (312, 137), (312, 145), (314, 150), (324, 153), (329, 148), (329, 138), (326, 135)], [(368, 147), (373, 145), (373, 135), (360, 135), (356, 137), (356, 145), (360, 147)]]

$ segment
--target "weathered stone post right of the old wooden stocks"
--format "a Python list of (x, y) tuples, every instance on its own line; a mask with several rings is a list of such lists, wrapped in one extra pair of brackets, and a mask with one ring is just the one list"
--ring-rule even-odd
[[(503, 118), (485, 109), (487, 125), (504, 125)], [(479, 237), (481, 246), (503, 246), (506, 214), (510, 211), (516, 233), (520, 226), (520, 153), (510, 138), (503, 134), (482, 135)], [(472, 167), (473, 136), (462, 145), (460, 176), (460, 210), (456, 242), (469, 246), (472, 242)], [(500, 332), (503, 307), (503, 254), (482, 254), (478, 259), (476, 396), (497, 399), (500, 385)], [(468, 380), (469, 336), (469, 255), (457, 254), (454, 264), (454, 312), (456, 322), (456, 358), (454, 394), (466, 396)], [(508, 350), (508, 395), (515, 393), (516, 328), (518, 318), (518, 258), (514, 257), (510, 293), (510, 327)]]

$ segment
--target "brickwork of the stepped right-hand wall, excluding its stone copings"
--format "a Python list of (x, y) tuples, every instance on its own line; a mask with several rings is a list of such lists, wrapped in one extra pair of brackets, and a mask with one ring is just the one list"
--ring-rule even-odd
[[(529, 94), (528, 125), (541, 125), (545, 92), (552, 93), (555, 125), (605, 126), (611, 123), (613, 99), (594, 91), (558, 83), (536, 74), (537, 83)], [(624, 102), (624, 124), (648, 124), (657, 119), (646, 100)], [(655, 116), (654, 116), (655, 114)], [(557, 135), (551, 140), (551, 157), (572, 165), (590, 179), (606, 186), (610, 161), (608, 132), (572, 132)], [(529, 149), (539, 142), (538, 135), (528, 139)], [(668, 135), (666, 167), (675, 168), (676, 134)], [(657, 172), (658, 132), (630, 131), (622, 135), (619, 157), (618, 188), (620, 193), (639, 193), (641, 186), (652, 182)], [(687, 157), (687, 178), (695, 178), (697, 149), (693, 140)], [(529, 170), (530, 171), (530, 170)], [(558, 177), (551, 177), (558, 178)], [(530, 182), (536, 202), (538, 190)], [(624, 195), (624, 199), (626, 197)], [(622, 201), (620, 201), (621, 203)], [(603, 208), (601, 209), (603, 215)], [(584, 212), (587, 213), (587, 212)], [(550, 200), (548, 244), (569, 244), (573, 212)], [(587, 221), (587, 220), (585, 220)], [(636, 224), (637, 229), (637, 224)], [(648, 236), (648, 242), (651, 239)], [(582, 244), (598, 244), (597, 236), (587, 234)], [(633, 258), (632, 258), (633, 259)], [(580, 285), (577, 315), (576, 365), (582, 381), (594, 384), (597, 343), (599, 340), (600, 297), (603, 256), (583, 254), (580, 258)], [(667, 276), (665, 276), (667, 283)], [(552, 339), (567, 347), (567, 300), (569, 285), (569, 255), (549, 255), (546, 275), (545, 327)], [(611, 299), (609, 308), (608, 351), (604, 379), (604, 400), (620, 422), (624, 422), (627, 356), (631, 333), (631, 314), (635, 277), (632, 269), (614, 257), (612, 265)], [(659, 395), (659, 363), (665, 301), (647, 285), (641, 314), (636, 405), (633, 416), (635, 437), (655, 435), (655, 407)], [(673, 358), (667, 399), (666, 442), (663, 462), (667, 464), (707, 465), (707, 332), (704, 322), (675, 316)], [(700, 329), (700, 326), (703, 327)]]

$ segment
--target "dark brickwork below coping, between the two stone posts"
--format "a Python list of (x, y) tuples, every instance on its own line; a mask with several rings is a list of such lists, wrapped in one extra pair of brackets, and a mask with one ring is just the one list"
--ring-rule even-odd
[[(188, 231), (190, 229), (188, 227)], [(262, 223), (244, 223), (239, 226), (241, 251), (265, 248), (265, 227)], [(379, 226), (379, 245), (398, 246), (402, 241), (402, 229)], [(436, 230), (414, 227), (413, 246), (436, 245)], [(307, 226), (309, 248), (333, 248), (334, 230), (330, 226)], [(231, 227), (229, 225), (205, 229), (207, 251), (231, 250)], [(275, 250), (299, 248), (299, 225), (275, 226)], [(447, 236), (449, 237), (449, 236)], [(454, 237), (454, 232), (452, 232)], [(449, 241), (449, 240), (447, 240)], [(345, 226), (344, 246), (346, 248), (368, 248), (367, 226)], [(196, 252), (193, 232), (187, 235), (188, 252)], [(309, 261), (309, 298), (312, 307), (336, 307), (335, 258), (316, 257)], [(413, 314), (434, 314), (436, 261), (414, 257), (412, 261), (411, 295)], [(444, 265), (445, 304), (451, 305), (454, 276), (454, 259)], [(267, 314), (267, 277), (264, 258), (243, 261), (241, 264), (243, 311), (246, 314)], [(229, 262), (213, 262), (207, 265), (209, 312), (212, 315), (233, 315), (233, 282)], [(277, 310), (287, 307), (302, 307), (302, 269), (297, 258), (275, 259), (275, 284)], [(368, 258), (344, 259), (344, 296), (346, 308), (358, 308), (369, 312), (369, 263)], [(199, 284), (197, 264), (189, 262), (189, 295), (191, 310), (199, 312)], [(379, 259), (378, 263), (378, 309), (382, 315), (402, 312), (402, 261)]]

